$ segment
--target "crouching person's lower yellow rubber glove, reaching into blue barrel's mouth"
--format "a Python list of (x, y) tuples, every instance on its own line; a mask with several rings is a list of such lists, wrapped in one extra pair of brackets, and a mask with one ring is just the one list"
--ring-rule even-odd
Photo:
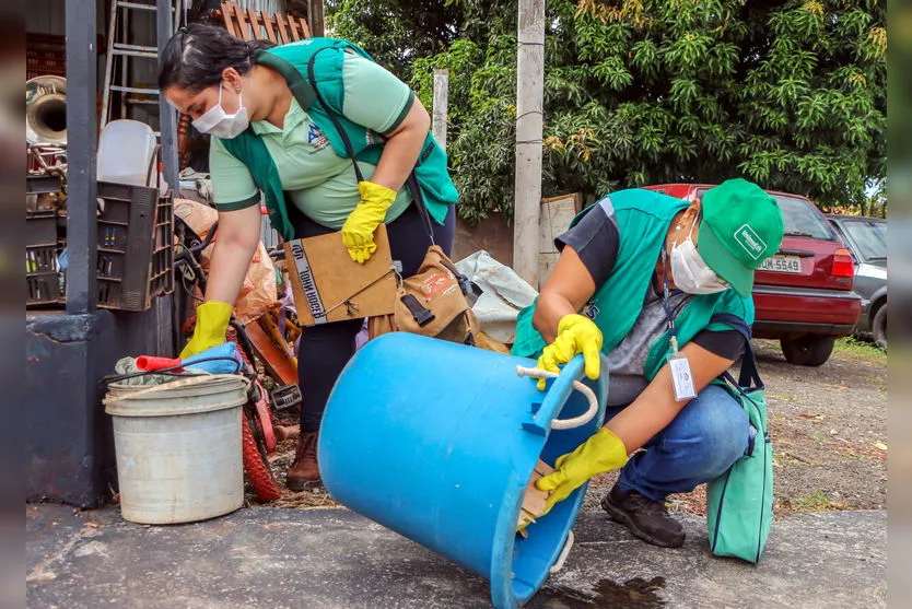
[(545, 514), (589, 478), (618, 469), (625, 462), (627, 448), (621, 438), (607, 428), (601, 428), (573, 453), (558, 457), (554, 471), (535, 483), (539, 491), (551, 492), (545, 502)]

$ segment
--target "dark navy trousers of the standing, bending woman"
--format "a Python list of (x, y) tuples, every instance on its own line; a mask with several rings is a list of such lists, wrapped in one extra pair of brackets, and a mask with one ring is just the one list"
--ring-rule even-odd
[[(313, 237), (335, 232), (335, 229), (314, 222), (304, 214), (290, 213), (299, 238)], [(456, 212), (451, 206), (443, 225), (431, 220), (434, 227), (434, 243), (449, 256), (453, 235), (456, 231)], [(414, 203), (395, 221), (386, 225), (393, 259), (402, 262), (402, 277), (418, 271), (424, 254), (431, 245), (428, 230)], [(339, 237), (341, 238), (341, 237)], [(362, 319), (335, 321), (305, 328), (297, 350), (297, 383), (301, 386), (301, 432), (319, 430), (326, 400), (336, 379), (354, 354), (354, 337), (361, 330)]]

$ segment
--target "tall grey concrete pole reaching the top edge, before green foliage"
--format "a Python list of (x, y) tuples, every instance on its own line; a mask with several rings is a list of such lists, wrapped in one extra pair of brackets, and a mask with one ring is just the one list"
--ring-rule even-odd
[(516, 54), (516, 177), (513, 269), (538, 289), (541, 133), (545, 90), (545, 0), (519, 0)]

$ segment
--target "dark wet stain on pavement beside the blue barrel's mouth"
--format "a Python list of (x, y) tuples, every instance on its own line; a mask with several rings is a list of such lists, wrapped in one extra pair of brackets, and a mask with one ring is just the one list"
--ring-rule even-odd
[(664, 587), (665, 577), (660, 576), (648, 581), (634, 577), (623, 584), (601, 579), (592, 592), (546, 585), (535, 596), (533, 606), (541, 609), (654, 609), (666, 605), (658, 595)]

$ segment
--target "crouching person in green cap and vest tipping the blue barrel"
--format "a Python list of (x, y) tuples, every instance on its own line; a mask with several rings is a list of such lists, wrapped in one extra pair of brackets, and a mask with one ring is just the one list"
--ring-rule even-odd
[(648, 543), (683, 543), (666, 496), (713, 480), (748, 447), (745, 411), (712, 382), (745, 349), (753, 270), (782, 236), (775, 200), (730, 179), (691, 203), (613, 192), (557, 239), (560, 260), (519, 314), (513, 353), (549, 371), (582, 353), (588, 377), (610, 378), (607, 424), (537, 483), (551, 491), (549, 510), (621, 468), (605, 511)]

